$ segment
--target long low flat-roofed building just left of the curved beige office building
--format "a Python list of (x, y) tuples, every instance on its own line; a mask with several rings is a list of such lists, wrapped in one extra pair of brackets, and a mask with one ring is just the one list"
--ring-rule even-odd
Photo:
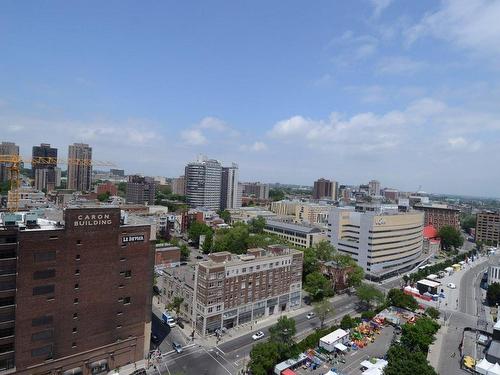
[(327, 240), (326, 230), (318, 227), (266, 220), (264, 232), (281, 237), (295, 246), (308, 248)]

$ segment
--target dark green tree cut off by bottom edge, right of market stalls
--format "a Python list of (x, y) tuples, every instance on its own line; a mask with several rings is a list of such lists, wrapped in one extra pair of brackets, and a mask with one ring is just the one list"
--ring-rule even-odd
[(384, 375), (437, 375), (427, 361), (427, 355), (412, 351), (403, 345), (392, 345), (387, 352), (388, 364)]

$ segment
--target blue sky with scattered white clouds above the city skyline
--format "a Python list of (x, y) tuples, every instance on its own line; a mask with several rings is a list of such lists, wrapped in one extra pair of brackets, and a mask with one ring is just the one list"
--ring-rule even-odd
[(500, 1), (0, 2), (0, 141), (500, 197)]

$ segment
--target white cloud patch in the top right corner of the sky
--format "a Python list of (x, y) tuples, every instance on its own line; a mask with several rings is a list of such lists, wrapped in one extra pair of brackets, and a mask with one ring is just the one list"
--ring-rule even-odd
[(406, 30), (409, 44), (432, 36), (455, 46), (491, 57), (500, 55), (500, 1), (442, 0), (435, 12), (427, 13)]

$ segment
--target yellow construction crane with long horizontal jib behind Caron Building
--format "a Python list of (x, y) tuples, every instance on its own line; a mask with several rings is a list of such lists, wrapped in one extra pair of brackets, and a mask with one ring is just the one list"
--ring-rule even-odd
[(23, 158), (19, 155), (0, 155), (0, 164), (4, 164), (10, 172), (10, 191), (12, 201), (9, 202), (9, 211), (16, 212), (19, 210), (19, 188), (21, 187), (20, 171), (22, 163), (31, 163), (31, 165), (47, 165), (54, 166), (57, 164), (79, 165), (85, 167), (115, 167), (115, 164), (109, 161), (98, 161), (90, 159), (59, 159), (54, 157), (34, 157)]

